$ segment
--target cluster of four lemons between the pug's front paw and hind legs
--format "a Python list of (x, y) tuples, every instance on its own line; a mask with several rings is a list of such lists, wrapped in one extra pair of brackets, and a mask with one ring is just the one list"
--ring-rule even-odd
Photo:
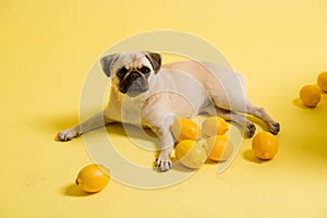
[[(232, 155), (233, 145), (223, 136), (228, 131), (227, 122), (220, 117), (209, 117), (199, 128), (194, 121), (186, 118), (175, 119), (171, 132), (177, 146), (174, 154), (177, 160), (191, 169), (198, 169), (210, 159), (226, 161)], [(204, 138), (204, 144), (199, 140)]]

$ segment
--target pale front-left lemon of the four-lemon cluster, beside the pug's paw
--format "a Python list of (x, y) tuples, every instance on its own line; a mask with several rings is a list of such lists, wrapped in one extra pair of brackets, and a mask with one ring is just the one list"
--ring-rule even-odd
[(191, 169), (201, 168), (207, 159), (205, 149), (197, 142), (191, 140), (180, 142), (174, 148), (174, 154), (177, 160)]

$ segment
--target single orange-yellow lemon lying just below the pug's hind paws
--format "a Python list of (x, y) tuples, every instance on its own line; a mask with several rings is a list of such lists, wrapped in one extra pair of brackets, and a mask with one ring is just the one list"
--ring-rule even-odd
[(277, 154), (278, 148), (277, 137), (269, 132), (261, 132), (252, 140), (253, 153), (261, 159), (271, 159)]

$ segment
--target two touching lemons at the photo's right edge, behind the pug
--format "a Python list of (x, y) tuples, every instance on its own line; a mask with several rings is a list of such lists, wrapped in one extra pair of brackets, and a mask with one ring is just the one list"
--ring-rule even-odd
[(305, 85), (300, 89), (300, 99), (306, 107), (314, 108), (320, 102), (320, 90), (327, 93), (327, 71), (318, 75), (316, 85)]

